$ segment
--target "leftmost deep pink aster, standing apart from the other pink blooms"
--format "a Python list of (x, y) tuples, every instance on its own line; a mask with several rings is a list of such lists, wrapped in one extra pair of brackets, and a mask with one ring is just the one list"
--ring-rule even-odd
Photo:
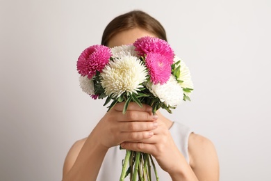
[(92, 45), (85, 49), (78, 58), (77, 71), (91, 79), (96, 71), (101, 72), (111, 56), (110, 48), (104, 45)]

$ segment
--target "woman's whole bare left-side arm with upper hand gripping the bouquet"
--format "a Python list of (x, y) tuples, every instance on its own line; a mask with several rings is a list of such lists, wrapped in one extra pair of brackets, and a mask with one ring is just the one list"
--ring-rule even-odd
[(63, 166), (63, 181), (96, 180), (101, 163), (110, 147), (124, 141), (153, 136), (156, 119), (151, 107), (131, 102), (126, 113), (124, 103), (116, 104), (99, 121), (87, 139), (77, 141), (69, 150)]

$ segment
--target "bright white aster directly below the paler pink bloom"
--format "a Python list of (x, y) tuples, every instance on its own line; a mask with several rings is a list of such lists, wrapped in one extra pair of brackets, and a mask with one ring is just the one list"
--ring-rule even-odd
[(151, 84), (148, 82), (147, 88), (154, 96), (158, 97), (166, 106), (176, 107), (183, 100), (183, 88), (172, 75), (165, 84)]

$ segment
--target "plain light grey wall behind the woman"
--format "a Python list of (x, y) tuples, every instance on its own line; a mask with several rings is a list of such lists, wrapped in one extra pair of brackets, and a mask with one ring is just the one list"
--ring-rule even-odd
[(195, 92), (169, 115), (213, 141), (221, 180), (271, 180), (271, 1), (0, 1), (0, 180), (61, 180), (67, 151), (106, 111), (76, 61), (106, 24), (145, 10)]

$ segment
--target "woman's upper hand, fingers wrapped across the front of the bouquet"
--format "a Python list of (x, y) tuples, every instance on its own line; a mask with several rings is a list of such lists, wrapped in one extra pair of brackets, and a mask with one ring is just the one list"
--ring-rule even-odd
[(124, 102), (116, 104), (91, 133), (105, 148), (120, 145), (124, 141), (149, 139), (158, 126), (158, 116), (154, 116), (151, 107), (146, 104), (141, 108), (135, 102), (130, 102), (125, 114), (122, 113), (123, 107)]

